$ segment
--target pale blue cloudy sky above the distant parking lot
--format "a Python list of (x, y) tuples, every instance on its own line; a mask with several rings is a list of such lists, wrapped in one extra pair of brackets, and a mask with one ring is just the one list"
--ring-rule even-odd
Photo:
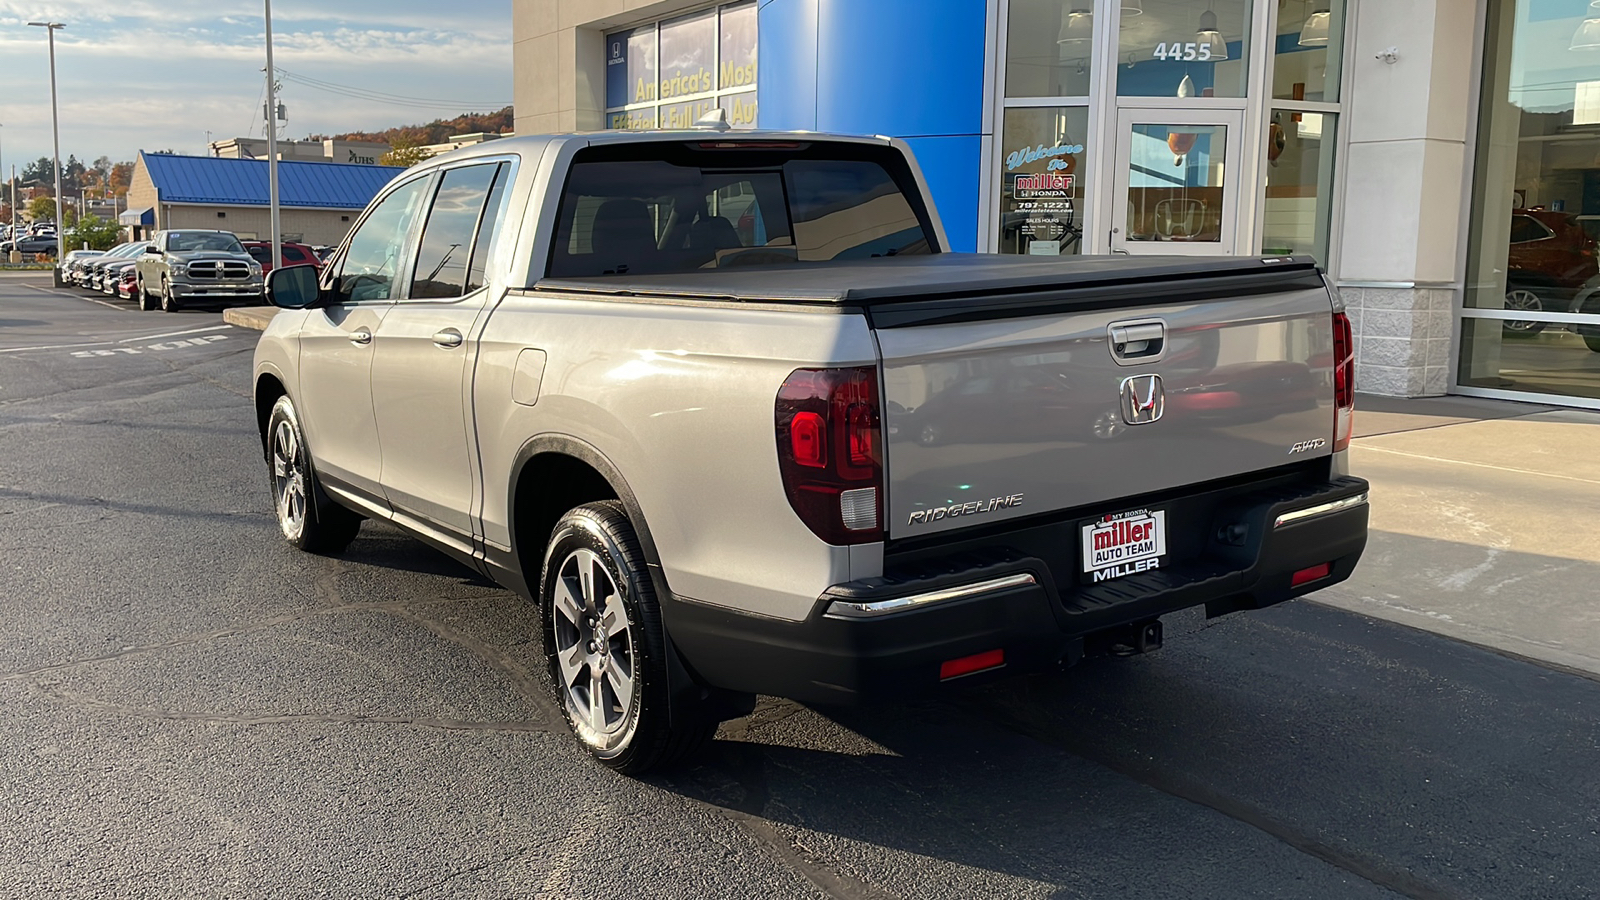
[[(139, 149), (200, 154), (262, 136), (262, 0), (0, 0), (0, 165), (50, 155), (56, 32), (61, 159), (131, 160)], [(274, 0), (285, 138), (378, 130), (488, 112), (512, 101), (510, 0)], [(406, 101), (370, 98), (394, 94)]]

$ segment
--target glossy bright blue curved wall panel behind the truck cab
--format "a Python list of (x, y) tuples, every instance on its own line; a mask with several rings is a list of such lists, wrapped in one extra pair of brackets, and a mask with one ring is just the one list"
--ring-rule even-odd
[(952, 250), (978, 243), (984, 0), (766, 0), (760, 125), (906, 138)]

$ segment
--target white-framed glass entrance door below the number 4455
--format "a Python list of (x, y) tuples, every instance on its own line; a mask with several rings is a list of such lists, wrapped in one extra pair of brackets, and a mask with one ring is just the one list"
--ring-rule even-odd
[(1243, 119), (1234, 109), (1118, 110), (1114, 253), (1238, 251)]

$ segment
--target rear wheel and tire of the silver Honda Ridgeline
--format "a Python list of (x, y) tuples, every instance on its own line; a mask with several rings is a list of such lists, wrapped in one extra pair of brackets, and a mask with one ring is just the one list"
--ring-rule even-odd
[[(595, 585), (600, 581), (594, 570), (589, 573), (587, 588), (582, 588), (581, 575), (574, 580), (574, 567), (581, 572), (586, 560), (603, 570), (610, 585), (600, 594), (619, 601), (626, 620), (616, 615), (616, 607), (608, 604), (608, 609), (600, 609), (594, 601)], [(565, 601), (558, 593), (558, 581), (566, 586)], [(587, 599), (574, 596), (571, 588), (579, 588), (578, 594), (587, 593)], [(613, 589), (614, 593), (608, 594)], [(590, 628), (584, 629), (571, 615), (563, 613), (563, 609), (578, 612), (579, 617), (586, 612), (594, 613), (587, 617)], [(555, 703), (566, 714), (573, 735), (602, 765), (624, 775), (667, 769), (699, 751), (717, 732), (717, 722), (710, 719), (678, 716), (677, 722), (669, 722), (661, 605), (656, 602), (656, 589), (645, 565), (645, 552), (621, 503), (579, 506), (555, 524), (539, 580), (539, 621)], [(626, 628), (626, 634), (616, 631), (618, 625)], [(597, 642), (587, 641), (597, 636), (600, 649)], [(563, 676), (563, 661), (558, 658), (563, 649), (568, 657), (566, 671), (576, 673), (573, 681)], [(616, 671), (621, 661), (627, 661), (627, 668), (632, 669), (632, 687), (626, 703), (619, 700), (621, 695), (611, 679), (611, 671)], [(611, 671), (606, 671), (606, 666), (611, 666)], [(598, 714), (602, 729), (592, 727), (579, 709), (584, 697), (595, 697), (594, 690), (584, 690), (586, 679), (598, 685), (602, 703), (594, 708), (603, 706), (603, 713)]]

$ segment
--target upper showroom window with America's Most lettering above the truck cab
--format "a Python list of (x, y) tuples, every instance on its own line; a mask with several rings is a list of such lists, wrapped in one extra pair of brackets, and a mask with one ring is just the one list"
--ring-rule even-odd
[(755, 128), (755, 0), (605, 37), (606, 128), (688, 128), (722, 107)]

